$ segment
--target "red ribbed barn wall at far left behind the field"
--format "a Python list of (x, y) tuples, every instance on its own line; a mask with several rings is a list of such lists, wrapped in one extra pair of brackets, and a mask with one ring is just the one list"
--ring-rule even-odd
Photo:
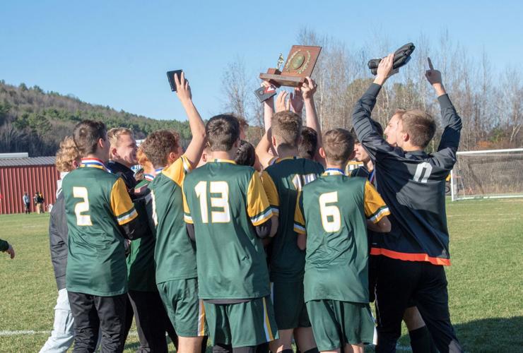
[(0, 167), (0, 214), (23, 213), (23, 193), (30, 197), (30, 210), (35, 212), (33, 196), (40, 191), (44, 196), (45, 210), (57, 197), (57, 180), (60, 174), (53, 164)]

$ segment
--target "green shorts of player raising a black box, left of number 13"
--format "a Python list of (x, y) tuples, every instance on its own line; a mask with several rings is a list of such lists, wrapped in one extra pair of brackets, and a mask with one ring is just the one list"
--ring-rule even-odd
[(158, 283), (158, 291), (176, 333), (182, 337), (207, 335), (203, 301), (198, 299), (198, 280)]

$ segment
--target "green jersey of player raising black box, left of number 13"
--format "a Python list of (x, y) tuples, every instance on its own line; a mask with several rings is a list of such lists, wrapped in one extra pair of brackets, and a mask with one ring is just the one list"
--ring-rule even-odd
[(155, 223), (156, 283), (197, 276), (196, 249), (184, 222), (182, 185), (191, 164), (182, 155), (149, 184)]

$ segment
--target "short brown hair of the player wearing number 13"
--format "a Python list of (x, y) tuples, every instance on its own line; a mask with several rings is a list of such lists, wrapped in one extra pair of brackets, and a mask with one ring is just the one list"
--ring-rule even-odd
[(240, 138), (240, 123), (230, 114), (213, 116), (205, 126), (209, 149), (226, 152)]

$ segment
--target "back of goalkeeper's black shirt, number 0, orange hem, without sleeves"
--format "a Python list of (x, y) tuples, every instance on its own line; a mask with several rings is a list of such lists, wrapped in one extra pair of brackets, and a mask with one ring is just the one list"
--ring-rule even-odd
[[(394, 251), (394, 257), (404, 260), (449, 264), (447, 164), (424, 151), (396, 149), (379, 156), (375, 168), (377, 191), (392, 213), (392, 231), (383, 239), (384, 251)], [(374, 249), (372, 253), (377, 255), (383, 250)]]

